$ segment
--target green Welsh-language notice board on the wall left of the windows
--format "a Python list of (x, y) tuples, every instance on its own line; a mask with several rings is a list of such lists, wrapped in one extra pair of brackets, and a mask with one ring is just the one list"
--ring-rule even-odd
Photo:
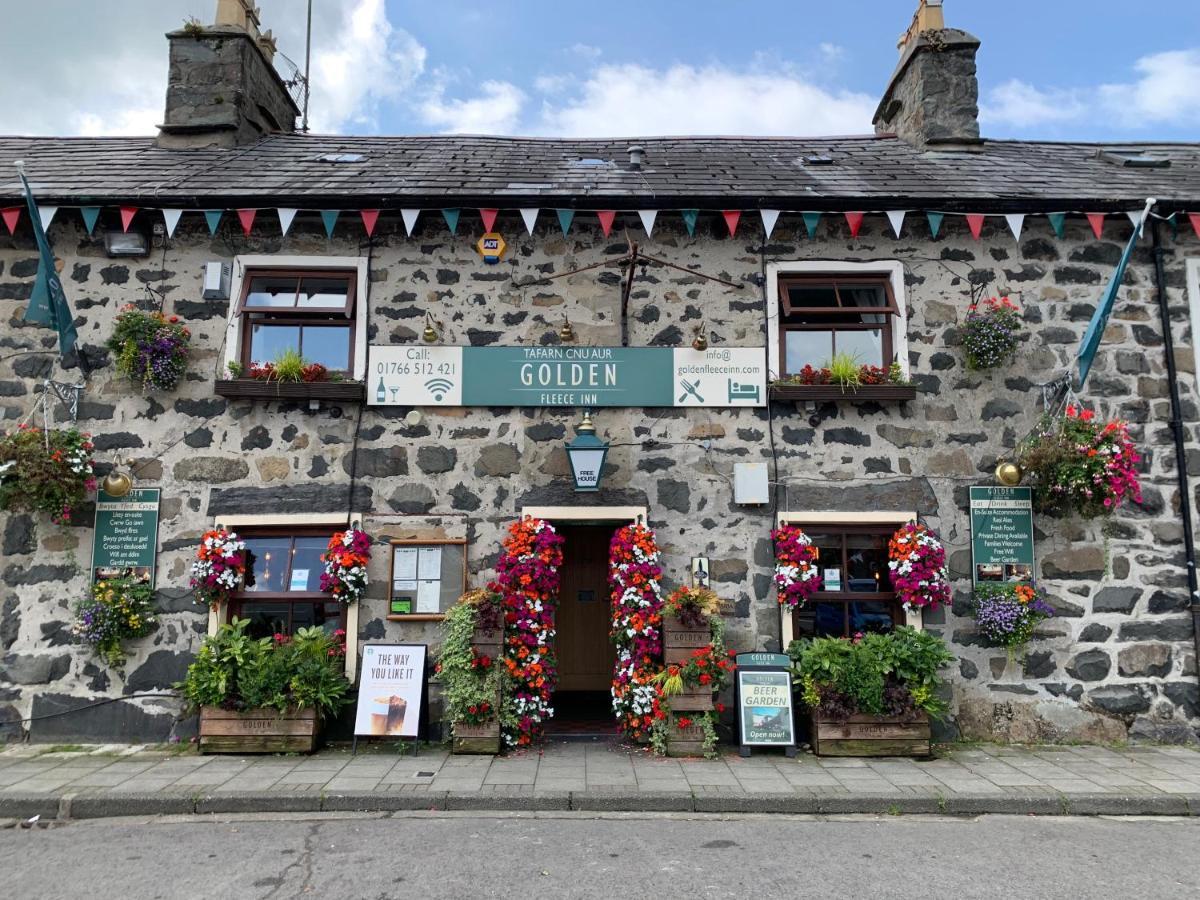
[(125, 497), (96, 491), (91, 539), (91, 581), (132, 577), (154, 587), (158, 553), (161, 487), (143, 487)]

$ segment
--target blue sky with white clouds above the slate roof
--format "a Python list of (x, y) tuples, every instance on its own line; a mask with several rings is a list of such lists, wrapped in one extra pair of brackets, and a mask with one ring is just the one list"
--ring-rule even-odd
[[(302, 61), (304, 0), (258, 4)], [(314, 131), (838, 134), (870, 130), (917, 0), (314, 5)], [(7, 71), (38, 74), (0, 82), (0, 132), (152, 133), (162, 35), (214, 8), (41, 0), (7, 11)], [(988, 137), (1200, 139), (1196, 0), (946, 0), (946, 18), (983, 41)], [(28, 40), (48, 30), (49, 46)]]

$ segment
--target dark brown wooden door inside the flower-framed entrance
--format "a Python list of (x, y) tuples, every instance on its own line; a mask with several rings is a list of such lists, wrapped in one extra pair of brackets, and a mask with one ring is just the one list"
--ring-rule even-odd
[(617, 652), (608, 640), (608, 526), (557, 526), (563, 546), (556, 617), (558, 689), (607, 691)]

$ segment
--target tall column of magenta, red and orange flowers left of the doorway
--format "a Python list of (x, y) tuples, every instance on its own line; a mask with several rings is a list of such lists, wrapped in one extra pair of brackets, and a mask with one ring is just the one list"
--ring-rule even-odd
[(488, 590), (504, 598), (504, 666), (509, 689), (500, 714), (508, 746), (541, 740), (554, 714), (550, 696), (557, 683), (554, 608), (563, 538), (541, 518), (522, 518), (509, 528)]

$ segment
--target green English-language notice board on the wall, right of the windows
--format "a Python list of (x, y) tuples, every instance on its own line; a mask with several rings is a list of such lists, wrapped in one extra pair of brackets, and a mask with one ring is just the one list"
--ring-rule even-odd
[(971, 488), (971, 583), (1033, 577), (1033, 491)]

